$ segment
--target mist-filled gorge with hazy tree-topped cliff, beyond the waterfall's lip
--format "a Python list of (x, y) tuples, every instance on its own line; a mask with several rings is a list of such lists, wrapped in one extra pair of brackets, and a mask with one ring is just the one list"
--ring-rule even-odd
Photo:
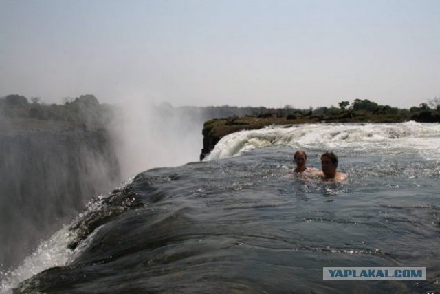
[(141, 171), (198, 161), (204, 121), (251, 111), (133, 97), (118, 105), (93, 95), (65, 105), (0, 98), (0, 272), (14, 269), (91, 198)]

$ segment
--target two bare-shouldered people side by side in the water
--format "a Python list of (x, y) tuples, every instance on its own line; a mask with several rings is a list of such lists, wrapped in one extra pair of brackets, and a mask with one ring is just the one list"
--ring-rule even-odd
[(294, 173), (303, 173), (305, 176), (317, 176), (325, 182), (343, 182), (348, 176), (345, 173), (337, 171), (338, 156), (333, 152), (326, 152), (321, 156), (321, 171), (315, 167), (306, 167), (307, 154), (303, 150), (298, 150), (294, 154), (296, 169)]

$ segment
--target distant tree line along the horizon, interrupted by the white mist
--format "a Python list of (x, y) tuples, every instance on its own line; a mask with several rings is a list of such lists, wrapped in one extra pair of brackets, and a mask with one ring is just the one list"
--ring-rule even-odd
[[(340, 101), (338, 107), (317, 107), (313, 109), (294, 108), (285, 105), (283, 108), (267, 107), (234, 107), (229, 105), (210, 107), (173, 107), (169, 103), (162, 103), (157, 107), (157, 112), (163, 116), (186, 114), (199, 116), (203, 120), (214, 118), (231, 118), (241, 116), (255, 116), (259, 118), (355, 118), (360, 117), (367, 121), (375, 121), (380, 117), (386, 121), (416, 120), (419, 122), (440, 122), (440, 98), (435, 97), (418, 107), (400, 109), (390, 105), (379, 105), (368, 99), (355, 99)], [(115, 107), (100, 104), (98, 99), (91, 94), (69, 99), (64, 105), (47, 105), (41, 98), (28, 98), (12, 94), (0, 98), (0, 114), (7, 118), (34, 118), (39, 120), (62, 120), (86, 125), (107, 125), (115, 114)]]

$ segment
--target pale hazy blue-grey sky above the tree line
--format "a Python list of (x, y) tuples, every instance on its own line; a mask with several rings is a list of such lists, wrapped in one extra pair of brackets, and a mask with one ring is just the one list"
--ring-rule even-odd
[(440, 1), (0, 0), (0, 96), (307, 108), (440, 94)]

